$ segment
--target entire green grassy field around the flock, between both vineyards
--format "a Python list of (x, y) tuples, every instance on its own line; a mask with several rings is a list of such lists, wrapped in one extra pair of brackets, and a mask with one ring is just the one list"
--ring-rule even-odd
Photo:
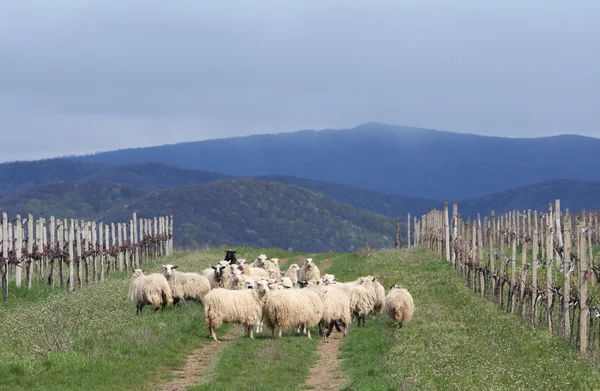
[[(237, 248), (286, 258), (282, 269), (305, 254)], [(222, 250), (176, 254), (169, 263), (201, 270)], [(451, 265), (426, 250), (386, 250), (371, 255), (310, 255), (340, 280), (375, 275), (384, 286), (401, 283), (416, 311), (397, 329), (385, 314), (353, 325), (342, 342), (347, 390), (590, 390), (600, 389), (600, 368), (577, 358), (574, 348), (524, 325), (471, 293)], [(159, 260), (145, 269), (158, 272)], [(0, 304), (1, 390), (149, 390), (171, 377), (185, 357), (204, 344), (202, 307), (184, 303), (142, 316), (127, 301), (129, 275), (114, 274), (76, 292), (11, 287)], [(223, 326), (218, 335), (228, 331)], [(272, 341), (237, 338), (214, 357), (192, 390), (300, 389), (317, 360), (320, 337), (288, 332)]]

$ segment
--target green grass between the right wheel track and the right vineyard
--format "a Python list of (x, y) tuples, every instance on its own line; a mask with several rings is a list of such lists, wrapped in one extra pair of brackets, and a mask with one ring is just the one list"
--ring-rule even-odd
[(352, 327), (341, 346), (351, 390), (600, 388), (600, 368), (579, 360), (566, 341), (474, 295), (429, 251), (338, 257), (329, 272), (341, 280), (376, 275), (386, 288), (406, 286), (415, 300), (402, 329), (386, 315)]

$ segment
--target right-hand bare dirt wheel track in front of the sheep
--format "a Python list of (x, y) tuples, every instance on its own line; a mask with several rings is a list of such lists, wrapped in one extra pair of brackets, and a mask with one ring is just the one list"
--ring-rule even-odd
[(342, 359), (338, 358), (342, 338), (342, 333), (334, 330), (329, 338), (321, 340), (317, 348), (319, 359), (310, 369), (310, 375), (306, 381), (306, 385), (312, 387), (312, 390), (339, 390), (346, 384), (347, 379), (341, 377), (340, 373)]

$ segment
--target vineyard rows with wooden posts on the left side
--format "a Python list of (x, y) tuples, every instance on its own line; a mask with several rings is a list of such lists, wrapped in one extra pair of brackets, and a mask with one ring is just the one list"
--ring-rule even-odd
[(31, 289), (35, 278), (72, 291), (104, 281), (111, 270), (133, 270), (172, 255), (173, 218), (138, 218), (134, 213), (129, 222), (96, 223), (54, 216), (34, 220), (30, 214), (9, 221), (3, 213), (0, 248), (4, 301), (13, 278), (17, 288), (25, 284)]

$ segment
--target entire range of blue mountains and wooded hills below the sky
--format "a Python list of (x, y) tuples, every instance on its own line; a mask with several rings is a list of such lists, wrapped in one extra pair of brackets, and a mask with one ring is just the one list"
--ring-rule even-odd
[[(178, 245), (351, 251), (366, 242), (393, 245), (396, 216), (404, 225), (408, 213), (441, 208), (443, 201), (458, 200), (462, 216), (541, 210), (556, 198), (573, 212), (600, 209), (600, 181), (577, 179), (600, 179), (594, 170), (600, 159), (591, 153), (598, 143), (369, 123), (119, 150), (0, 164), (0, 210), (106, 221), (127, 219), (134, 210), (141, 217), (173, 214)], [(526, 178), (531, 182), (507, 189)], [(481, 188), (503, 190), (436, 196)], [(427, 196), (405, 195), (411, 192)]]

